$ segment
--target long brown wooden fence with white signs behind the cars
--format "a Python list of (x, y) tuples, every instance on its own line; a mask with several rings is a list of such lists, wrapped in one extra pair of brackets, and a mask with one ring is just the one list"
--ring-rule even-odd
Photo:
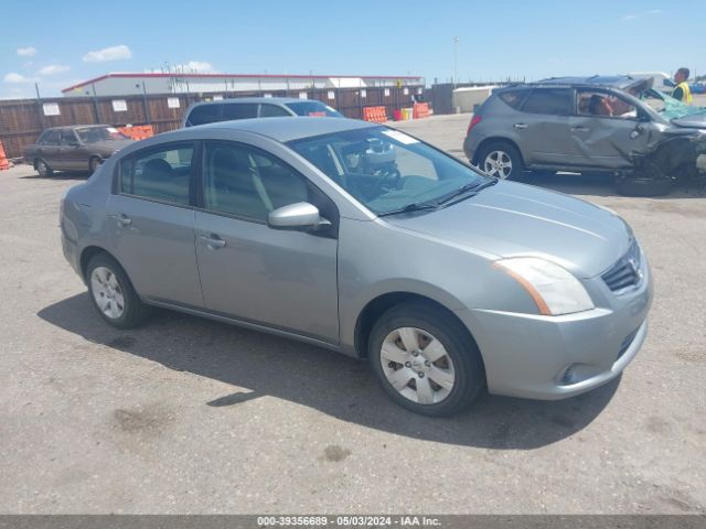
[[(327, 88), (306, 90), (267, 90), (274, 97), (293, 96), (304, 91), (309, 99), (320, 100), (349, 118), (361, 119), (363, 107), (384, 106), (392, 118), (393, 110), (409, 107), (413, 96), (419, 97), (421, 86)], [(261, 96), (263, 93), (220, 94), (224, 98)], [(148, 96), (60, 97), (42, 99), (0, 100), (0, 141), (8, 158), (20, 158), (24, 147), (36, 141), (49, 127), (105, 123), (122, 127), (151, 125), (154, 132), (165, 132), (181, 126), (182, 115), (190, 105), (212, 99), (214, 94), (160, 94)], [(331, 97), (333, 96), (333, 97)]]

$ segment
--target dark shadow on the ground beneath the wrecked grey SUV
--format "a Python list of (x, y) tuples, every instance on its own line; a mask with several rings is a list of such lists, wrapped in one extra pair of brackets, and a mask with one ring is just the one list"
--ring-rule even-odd
[[(514, 182), (537, 185), (575, 196), (624, 196), (616, 191), (612, 174), (553, 173), (533, 171), (513, 176)], [(651, 199), (703, 198), (703, 184), (698, 182), (680, 183), (667, 195), (651, 196)]]

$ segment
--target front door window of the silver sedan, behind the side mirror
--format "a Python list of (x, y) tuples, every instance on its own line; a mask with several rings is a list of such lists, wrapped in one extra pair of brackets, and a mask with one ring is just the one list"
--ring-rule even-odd
[(279, 207), (309, 199), (301, 174), (240, 143), (207, 143), (203, 180), (206, 209), (258, 222)]

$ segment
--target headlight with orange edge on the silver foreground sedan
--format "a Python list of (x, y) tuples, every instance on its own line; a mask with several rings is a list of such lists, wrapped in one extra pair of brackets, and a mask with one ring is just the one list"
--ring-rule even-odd
[(554, 262), (517, 257), (494, 264), (527, 291), (541, 314), (558, 316), (593, 309), (593, 302), (579, 280)]

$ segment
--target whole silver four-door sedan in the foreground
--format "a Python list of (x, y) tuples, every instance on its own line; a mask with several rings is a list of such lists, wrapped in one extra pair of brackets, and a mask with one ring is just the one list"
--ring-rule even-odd
[(66, 193), (61, 230), (109, 324), (160, 306), (367, 358), (394, 400), (429, 415), (485, 386), (561, 399), (616, 378), (652, 300), (613, 213), (338, 118), (130, 145)]

